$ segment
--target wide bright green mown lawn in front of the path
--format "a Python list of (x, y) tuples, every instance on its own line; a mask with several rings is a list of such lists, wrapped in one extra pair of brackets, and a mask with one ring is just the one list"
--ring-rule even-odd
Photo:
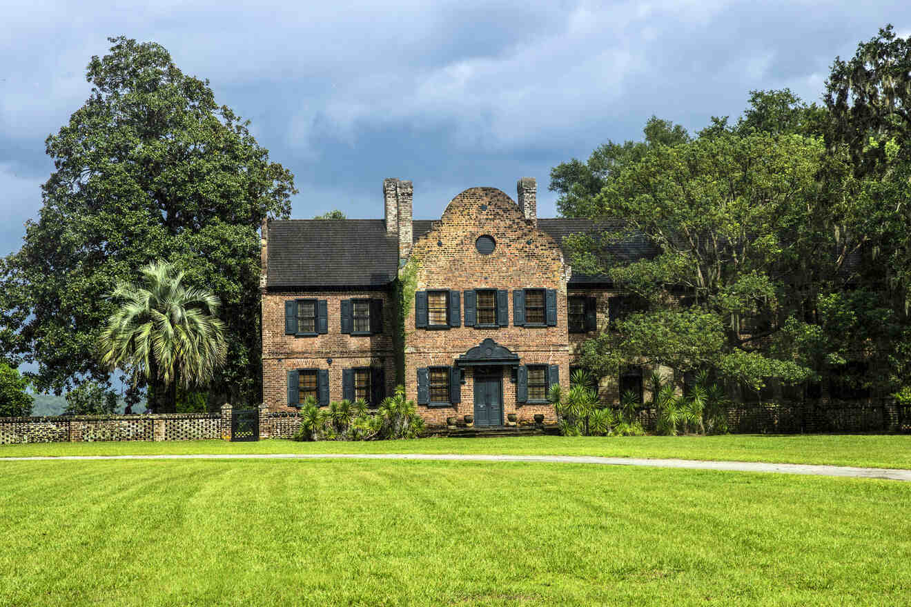
[(337, 460), (0, 462), (5, 605), (899, 605), (911, 484)]

